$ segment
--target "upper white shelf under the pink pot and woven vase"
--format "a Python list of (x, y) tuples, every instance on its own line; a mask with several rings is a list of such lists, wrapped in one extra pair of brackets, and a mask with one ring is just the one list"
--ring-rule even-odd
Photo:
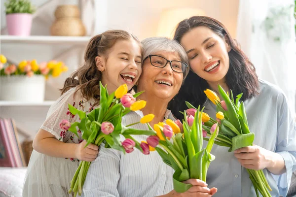
[(50, 35), (32, 35), (32, 36), (14, 36), (0, 35), (0, 42), (15, 44), (80, 44), (86, 45), (90, 36), (50, 36)]

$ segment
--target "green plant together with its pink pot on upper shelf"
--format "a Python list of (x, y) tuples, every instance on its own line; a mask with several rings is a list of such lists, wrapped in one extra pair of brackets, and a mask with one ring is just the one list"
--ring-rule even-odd
[(7, 0), (6, 25), (9, 35), (28, 36), (31, 33), (32, 14), (35, 7), (30, 0)]

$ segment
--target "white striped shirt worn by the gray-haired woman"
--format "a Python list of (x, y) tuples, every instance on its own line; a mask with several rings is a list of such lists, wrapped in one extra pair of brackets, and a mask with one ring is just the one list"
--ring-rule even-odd
[[(122, 117), (122, 124), (139, 122), (142, 117), (141, 111), (130, 112)], [(174, 120), (169, 110), (164, 118)], [(148, 130), (146, 124), (132, 127)], [(148, 136), (133, 137), (141, 142), (146, 141)], [(132, 153), (124, 154), (102, 145), (99, 156), (88, 169), (82, 197), (155, 197), (172, 191), (173, 168), (165, 164), (156, 151), (144, 155), (134, 149)]]

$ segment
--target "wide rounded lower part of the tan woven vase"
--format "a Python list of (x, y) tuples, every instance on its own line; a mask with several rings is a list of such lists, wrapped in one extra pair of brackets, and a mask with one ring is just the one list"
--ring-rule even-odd
[(51, 35), (83, 36), (85, 27), (78, 18), (58, 19), (51, 26)]

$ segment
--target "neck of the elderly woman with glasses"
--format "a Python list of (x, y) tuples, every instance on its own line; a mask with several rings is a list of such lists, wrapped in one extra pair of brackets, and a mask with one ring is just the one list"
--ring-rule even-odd
[(169, 99), (160, 99), (155, 96), (148, 95), (146, 92), (141, 94), (138, 98), (147, 101), (146, 106), (141, 110), (144, 116), (147, 114), (154, 114), (155, 116), (149, 123), (152, 127), (154, 124), (164, 120), (164, 115), (169, 103)]

